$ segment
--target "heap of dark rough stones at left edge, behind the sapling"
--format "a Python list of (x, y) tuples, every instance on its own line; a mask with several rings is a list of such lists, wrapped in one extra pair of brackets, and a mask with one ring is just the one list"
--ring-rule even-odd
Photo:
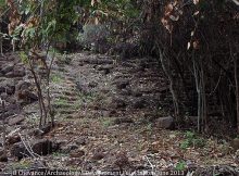
[(0, 118), (11, 118), (21, 113), (23, 105), (37, 100), (27, 70), (16, 54), (0, 56), (0, 98), (5, 101), (5, 111), (0, 105)]

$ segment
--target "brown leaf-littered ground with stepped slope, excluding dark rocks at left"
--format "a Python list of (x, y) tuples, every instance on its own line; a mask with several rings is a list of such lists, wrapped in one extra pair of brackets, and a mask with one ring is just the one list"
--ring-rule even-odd
[[(51, 80), (56, 125), (43, 138), (61, 143), (61, 150), (38, 159), (50, 168), (128, 171), (133, 175), (137, 169), (171, 169), (185, 175), (186, 169), (216, 173), (239, 167), (236, 151), (226, 140), (162, 129), (158, 118), (169, 116), (161, 102), (168, 87), (155, 60), (74, 53), (60, 56)], [(37, 103), (24, 112), (28, 114), (25, 126), (36, 127)], [(36, 159), (12, 158), (1, 167), (34, 164)]]

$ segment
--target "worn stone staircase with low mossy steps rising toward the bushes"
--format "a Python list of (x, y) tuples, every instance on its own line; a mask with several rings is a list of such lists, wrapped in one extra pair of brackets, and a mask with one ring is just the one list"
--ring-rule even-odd
[[(51, 85), (53, 106), (68, 117), (159, 116), (158, 106), (167, 83), (158, 62), (149, 59), (116, 61), (112, 56), (76, 53), (70, 64), (55, 64)], [(166, 87), (166, 88), (165, 88)], [(163, 92), (165, 93), (165, 92)], [(161, 112), (164, 115), (163, 112)]]

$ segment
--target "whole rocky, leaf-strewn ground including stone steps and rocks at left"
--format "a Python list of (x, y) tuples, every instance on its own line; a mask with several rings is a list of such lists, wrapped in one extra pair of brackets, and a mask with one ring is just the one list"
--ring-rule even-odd
[(234, 144), (175, 129), (167, 81), (151, 58), (59, 55), (51, 75), (56, 125), (47, 134), (37, 130), (30, 74), (17, 56), (9, 54), (0, 63), (0, 93), (8, 101), (7, 112), (0, 109), (8, 123), (8, 162), (0, 163), (2, 171), (45, 166), (133, 175), (136, 171), (238, 172)]

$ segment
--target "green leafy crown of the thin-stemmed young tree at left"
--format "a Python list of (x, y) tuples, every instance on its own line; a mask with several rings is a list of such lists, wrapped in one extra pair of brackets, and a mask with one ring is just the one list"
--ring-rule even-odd
[(71, 27), (77, 23), (79, 13), (74, 7), (79, 0), (73, 1), (32, 1), (18, 2), (18, 13), (26, 16), (24, 25), (15, 28), (15, 36), (20, 38), (23, 47), (36, 47), (42, 43), (66, 41)]

